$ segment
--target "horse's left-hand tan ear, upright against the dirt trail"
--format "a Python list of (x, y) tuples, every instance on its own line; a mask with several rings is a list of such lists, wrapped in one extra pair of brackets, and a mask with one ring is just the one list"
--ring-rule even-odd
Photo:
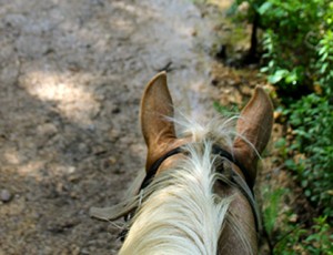
[(167, 73), (157, 74), (145, 86), (141, 100), (141, 129), (148, 146), (149, 165), (159, 159), (165, 146), (175, 140), (175, 130), (167, 118), (173, 116), (173, 103), (167, 84)]

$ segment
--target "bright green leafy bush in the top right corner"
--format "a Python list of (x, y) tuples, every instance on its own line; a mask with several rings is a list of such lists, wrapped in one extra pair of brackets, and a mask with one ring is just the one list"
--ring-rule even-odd
[(235, 1), (236, 6), (243, 2), (249, 3), (248, 20), (252, 22), (259, 16), (263, 29), (261, 71), (282, 93), (300, 94), (314, 83), (327, 85), (327, 75), (332, 81), (332, 1)]

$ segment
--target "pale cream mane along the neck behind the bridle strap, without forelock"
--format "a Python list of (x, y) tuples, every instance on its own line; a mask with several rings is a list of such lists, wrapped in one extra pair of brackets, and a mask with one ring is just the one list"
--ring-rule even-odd
[[(212, 193), (210, 146), (158, 175), (120, 254), (214, 254), (230, 200)], [(152, 192), (153, 191), (153, 192)]]

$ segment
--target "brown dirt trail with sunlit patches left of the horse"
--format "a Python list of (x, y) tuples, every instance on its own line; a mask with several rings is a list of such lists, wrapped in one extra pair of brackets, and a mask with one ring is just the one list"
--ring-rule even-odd
[(190, 1), (1, 1), (1, 255), (115, 254), (118, 231), (88, 211), (143, 166), (158, 70), (184, 111), (212, 114), (211, 28)]

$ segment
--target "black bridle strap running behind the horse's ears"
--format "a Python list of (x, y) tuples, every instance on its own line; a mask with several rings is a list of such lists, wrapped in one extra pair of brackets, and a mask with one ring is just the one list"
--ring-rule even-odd
[[(179, 146), (179, 147), (175, 147), (175, 149), (169, 151), (163, 156), (158, 159), (150, 166), (149, 171), (147, 171), (147, 175), (143, 178), (142, 184), (140, 186), (140, 191), (143, 191), (152, 182), (159, 167), (167, 159), (169, 159), (172, 155), (175, 155), (179, 153), (184, 153), (184, 152), (185, 152), (185, 150), (182, 146)], [(212, 154), (215, 154), (223, 159), (226, 159), (228, 161), (230, 161), (231, 163), (233, 163), (241, 170), (245, 180), (238, 172), (235, 172), (235, 170), (233, 167), (231, 167), (231, 174), (229, 176), (228, 183), (238, 187), (242, 192), (242, 194), (246, 197), (246, 200), (249, 201), (249, 203), (251, 205), (252, 212), (254, 214), (256, 232), (261, 233), (261, 231), (262, 231), (261, 217), (260, 217), (258, 205), (255, 203), (254, 193), (252, 190), (253, 184), (252, 184), (252, 180), (250, 178), (249, 172), (236, 159), (234, 159), (234, 156), (230, 152), (223, 150), (221, 146), (219, 146), (216, 144), (212, 145)], [(222, 172), (222, 171), (223, 171), (223, 169), (220, 170), (220, 172)]]

